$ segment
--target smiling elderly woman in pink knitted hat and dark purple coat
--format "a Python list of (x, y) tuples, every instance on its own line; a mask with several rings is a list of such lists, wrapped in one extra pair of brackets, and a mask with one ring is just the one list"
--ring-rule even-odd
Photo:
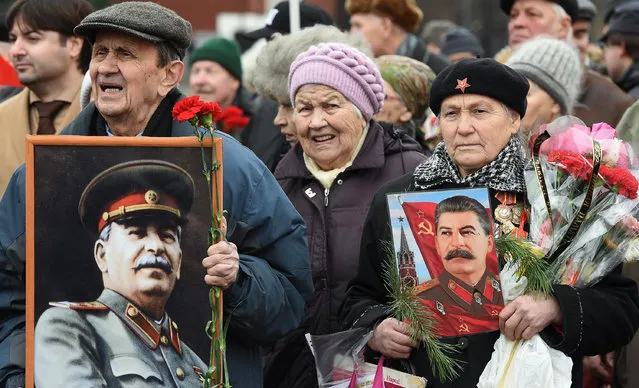
[(270, 363), (276, 367), (269, 368), (265, 387), (313, 387), (317, 376), (303, 334), (339, 329), (338, 309), (357, 271), (373, 194), (425, 156), (414, 139), (373, 120), (384, 102), (384, 81), (357, 49), (311, 46), (293, 62), (288, 80), (299, 142), (275, 177), (306, 222), (315, 296), (299, 332), (278, 344), (284, 350)]

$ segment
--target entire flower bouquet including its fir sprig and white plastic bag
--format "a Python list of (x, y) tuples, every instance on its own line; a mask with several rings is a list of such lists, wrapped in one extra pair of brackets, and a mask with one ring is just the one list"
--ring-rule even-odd
[[(508, 259), (500, 273), (506, 303), (548, 294), (553, 283), (587, 287), (639, 259), (639, 162), (616, 131), (562, 117), (533, 133), (530, 150), (528, 240), (496, 239)], [(568, 388), (571, 367), (539, 335), (518, 341), (501, 335), (477, 386)]]

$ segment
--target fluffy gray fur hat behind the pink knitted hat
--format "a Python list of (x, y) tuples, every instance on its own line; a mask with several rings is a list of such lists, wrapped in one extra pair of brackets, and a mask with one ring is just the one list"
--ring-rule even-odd
[(348, 34), (337, 27), (315, 25), (289, 35), (280, 35), (270, 41), (257, 56), (259, 69), (251, 80), (255, 89), (278, 102), (289, 101), (288, 73), (295, 58), (319, 43), (342, 43), (355, 47), (372, 58), (370, 45), (359, 34)]

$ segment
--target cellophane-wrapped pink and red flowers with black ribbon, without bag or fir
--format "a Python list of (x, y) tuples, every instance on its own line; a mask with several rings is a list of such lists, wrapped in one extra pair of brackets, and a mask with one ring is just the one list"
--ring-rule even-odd
[(530, 238), (553, 283), (586, 287), (639, 259), (639, 162), (607, 124), (569, 117), (542, 126), (526, 170)]

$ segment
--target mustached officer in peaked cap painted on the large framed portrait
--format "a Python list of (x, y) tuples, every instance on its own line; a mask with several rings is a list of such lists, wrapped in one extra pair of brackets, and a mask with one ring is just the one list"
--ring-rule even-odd
[(47, 387), (195, 387), (207, 366), (180, 340), (165, 305), (182, 265), (194, 183), (159, 160), (115, 165), (87, 185), (78, 211), (98, 237), (104, 290), (50, 303), (35, 330), (35, 382)]

